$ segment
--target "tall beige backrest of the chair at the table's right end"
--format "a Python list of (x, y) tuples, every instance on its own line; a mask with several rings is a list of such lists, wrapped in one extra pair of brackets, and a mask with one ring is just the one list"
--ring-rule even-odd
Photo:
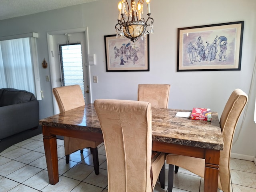
[(220, 151), (220, 182), (223, 191), (230, 190), (230, 154), (236, 124), (247, 103), (248, 96), (240, 89), (236, 89), (230, 95), (222, 115), (220, 128), (224, 142), (224, 150)]

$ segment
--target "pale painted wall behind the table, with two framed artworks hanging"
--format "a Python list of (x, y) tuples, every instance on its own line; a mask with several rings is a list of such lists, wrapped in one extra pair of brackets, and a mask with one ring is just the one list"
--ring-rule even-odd
[[(138, 84), (166, 83), (171, 84), (169, 108), (207, 107), (217, 111), (220, 117), (235, 88), (249, 94), (256, 55), (255, 0), (152, 0), (154, 34), (150, 35), (150, 72), (106, 72), (104, 35), (115, 34), (117, 4), (118, 0), (99, 0), (2, 20), (0, 36), (38, 32), (38, 59), (42, 62), (44, 58), (49, 61), (46, 32), (88, 27), (89, 52), (96, 54), (97, 61), (96, 66), (90, 66), (91, 76), (98, 76), (98, 83), (92, 83), (92, 100), (136, 100)], [(244, 20), (241, 71), (176, 72), (177, 28), (241, 20)], [(40, 101), (40, 118), (53, 114), (52, 88), (50, 82), (45, 81), (46, 75), (50, 75), (49, 67), (43, 69), (40, 63), (44, 92)], [(255, 95), (254, 85), (242, 127), (242, 117), (238, 123), (232, 148), (234, 154), (256, 155)]]

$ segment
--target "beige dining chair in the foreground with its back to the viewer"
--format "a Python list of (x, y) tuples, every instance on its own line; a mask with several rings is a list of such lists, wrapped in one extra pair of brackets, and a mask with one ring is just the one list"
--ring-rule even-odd
[(158, 176), (165, 182), (165, 154), (152, 152), (150, 103), (98, 99), (94, 108), (106, 149), (108, 191), (152, 192)]

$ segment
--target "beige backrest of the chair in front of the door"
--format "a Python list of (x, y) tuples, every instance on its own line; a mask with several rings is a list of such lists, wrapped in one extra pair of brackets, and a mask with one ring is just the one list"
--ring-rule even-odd
[(56, 87), (52, 91), (58, 102), (60, 112), (85, 105), (84, 96), (79, 85)]

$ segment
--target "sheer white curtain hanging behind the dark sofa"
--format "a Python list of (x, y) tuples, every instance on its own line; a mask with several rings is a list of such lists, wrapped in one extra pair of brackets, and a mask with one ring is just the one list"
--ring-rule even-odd
[(0, 41), (0, 88), (36, 94), (29, 38)]

